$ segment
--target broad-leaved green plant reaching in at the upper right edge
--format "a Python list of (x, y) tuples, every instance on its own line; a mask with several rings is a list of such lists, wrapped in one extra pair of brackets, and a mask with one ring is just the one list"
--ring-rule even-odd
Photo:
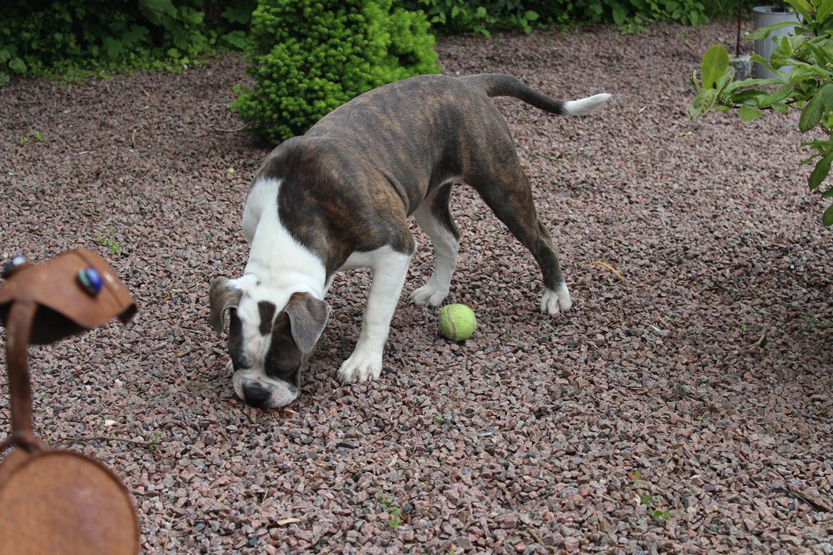
[[(711, 109), (737, 111), (743, 121), (753, 121), (764, 111), (786, 114), (801, 111), (798, 128), (802, 133), (817, 130), (814, 138), (801, 143), (812, 151), (801, 166), (815, 164), (807, 179), (812, 191), (825, 182), (833, 162), (833, 0), (785, 0), (801, 16), (801, 23), (781, 22), (756, 29), (748, 40), (769, 37), (781, 27), (796, 26), (795, 34), (781, 37), (769, 60), (757, 54), (751, 57), (769, 67), (779, 77), (733, 81), (735, 69), (729, 66), (726, 48), (706, 50), (701, 62), (700, 78), (695, 71), (691, 83), (696, 97), (691, 101), (692, 119)], [(784, 70), (792, 68), (791, 73)], [(822, 198), (833, 197), (833, 186), (825, 186)], [(821, 216), (824, 225), (833, 224), (833, 206)]]

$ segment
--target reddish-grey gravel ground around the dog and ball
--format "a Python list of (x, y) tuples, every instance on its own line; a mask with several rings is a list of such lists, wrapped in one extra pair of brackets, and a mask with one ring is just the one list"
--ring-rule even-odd
[(382, 378), (335, 380), (357, 271), (331, 291), (302, 398), (272, 412), (234, 398), (207, 325), (209, 281), (245, 264), (242, 202), (267, 154), (227, 108), (241, 58), (12, 83), (2, 259), (86, 245), (140, 307), (32, 349), (38, 434), (115, 469), (147, 553), (833, 553), (833, 513), (790, 493), (833, 505), (833, 249), (797, 166), (806, 137), (795, 116), (686, 115), (701, 52), (733, 37), (726, 22), (441, 40), (452, 75), (615, 95), (582, 119), (498, 101), (574, 309), (537, 314), (532, 256), (461, 187), (447, 302), (474, 308), (475, 336), (441, 339), (438, 310), (407, 302), (432, 267), (415, 228)]

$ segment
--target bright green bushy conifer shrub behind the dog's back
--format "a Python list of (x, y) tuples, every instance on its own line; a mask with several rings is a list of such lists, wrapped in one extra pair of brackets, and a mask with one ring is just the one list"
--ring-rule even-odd
[(392, 0), (259, 0), (249, 38), (255, 82), (232, 108), (270, 144), (362, 92), (440, 71), (425, 15)]

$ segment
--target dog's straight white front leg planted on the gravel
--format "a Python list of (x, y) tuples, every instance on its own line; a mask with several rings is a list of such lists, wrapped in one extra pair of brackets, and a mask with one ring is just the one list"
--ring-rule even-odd
[(382, 351), (412, 255), (413, 251), (407, 254), (387, 246), (362, 255), (368, 257), (367, 265), (373, 272), (373, 281), (356, 349), (338, 369), (338, 379), (342, 384), (365, 382), (382, 374)]

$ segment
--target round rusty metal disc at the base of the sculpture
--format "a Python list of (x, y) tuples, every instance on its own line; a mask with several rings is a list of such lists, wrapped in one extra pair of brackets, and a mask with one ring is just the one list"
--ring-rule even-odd
[(127, 488), (81, 453), (15, 449), (0, 464), (0, 507), (0, 553), (138, 553)]

